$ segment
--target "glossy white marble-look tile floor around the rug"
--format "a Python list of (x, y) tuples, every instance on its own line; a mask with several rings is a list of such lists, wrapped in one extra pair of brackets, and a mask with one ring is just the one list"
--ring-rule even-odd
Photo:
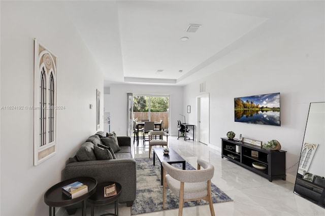
[[(279, 180), (269, 182), (243, 167), (226, 159), (221, 159), (220, 152), (196, 141), (177, 140), (169, 137), (169, 147), (177, 151), (187, 162), (197, 166), (197, 158), (209, 161), (215, 167), (212, 182), (230, 196), (234, 201), (214, 204), (216, 215), (325, 215), (325, 209), (315, 205), (293, 193), (294, 184)], [(148, 157), (148, 145), (143, 148), (135, 146), (135, 157)], [(95, 215), (114, 212), (113, 205), (95, 208)], [(64, 216), (67, 216), (65, 212)], [(76, 215), (81, 215), (80, 211)], [(90, 215), (90, 209), (87, 209)], [(119, 205), (119, 215), (131, 215), (130, 207)], [(178, 209), (140, 214), (145, 216), (178, 215)], [(210, 215), (208, 205), (187, 207), (183, 209), (184, 216)]]

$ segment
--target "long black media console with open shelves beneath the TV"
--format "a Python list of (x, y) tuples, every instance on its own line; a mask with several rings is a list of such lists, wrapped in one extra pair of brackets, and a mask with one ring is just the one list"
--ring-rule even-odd
[[(270, 182), (274, 178), (285, 180), (286, 151), (263, 149), (236, 139), (221, 138), (221, 140), (221, 158), (227, 158), (252, 172), (262, 175), (268, 178)], [(253, 162), (266, 165), (266, 169), (253, 167)]]

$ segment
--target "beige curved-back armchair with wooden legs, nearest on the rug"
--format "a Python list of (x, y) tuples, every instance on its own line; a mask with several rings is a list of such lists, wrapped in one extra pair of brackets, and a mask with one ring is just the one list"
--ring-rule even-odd
[[(204, 199), (209, 202), (211, 215), (214, 209), (211, 196), (211, 178), (214, 174), (214, 166), (208, 162), (198, 159), (198, 170), (177, 169), (167, 162), (162, 163), (163, 169), (163, 208), (166, 207), (166, 188), (179, 197), (178, 215), (183, 213), (183, 204), (186, 201)], [(200, 169), (201, 166), (204, 169)], [(168, 173), (166, 175), (166, 172)]]

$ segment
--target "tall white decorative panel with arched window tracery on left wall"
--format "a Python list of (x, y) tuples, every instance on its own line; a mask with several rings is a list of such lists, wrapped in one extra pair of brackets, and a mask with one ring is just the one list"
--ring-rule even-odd
[(35, 39), (34, 165), (56, 153), (57, 57)]

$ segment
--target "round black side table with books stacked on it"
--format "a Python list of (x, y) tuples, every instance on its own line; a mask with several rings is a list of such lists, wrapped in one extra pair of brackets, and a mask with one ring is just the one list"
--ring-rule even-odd
[[(74, 182), (81, 182), (88, 186), (88, 193), (83, 194), (74, 199), (69, 199), (66, 195), (62, 193), (62, 187), (69, 185)], [(53, 216), (55, 216), (55, 207), (64, 207), (82, 202), (82, 215), (86, 216), (86, 202), (87, 198), (95, 193), (97, 187), (97, 181), (91, 177), (76, 177), (70, 178), (49, 188), (44, 194), (44, 202), (50, 207), (49, 215), (52, 215), (53, 207)]]

